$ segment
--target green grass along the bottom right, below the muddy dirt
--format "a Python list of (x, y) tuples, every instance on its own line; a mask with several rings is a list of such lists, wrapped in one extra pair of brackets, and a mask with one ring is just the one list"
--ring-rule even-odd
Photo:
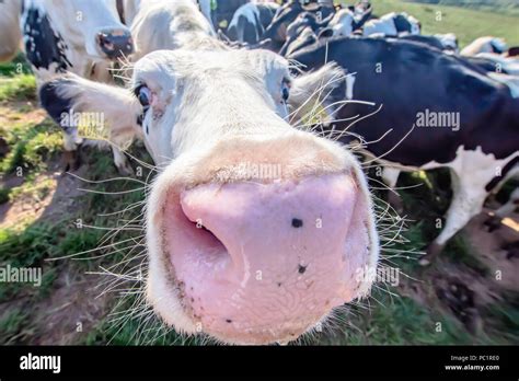
[[(391, 290), (393, 293), (395, 290)], [(377, 301), (374, 301), (377, 299)], [(483, 310), (483, 331), (471, 334), (449, 314), (407, 297), (373, 292), (370, 307), (354, 307), (342, 315), (348, 326), (318, 343), (339, 345), (506, 345), (519, 343), (517, 305), (496, 302)], [(325, 332), (325, 331), (324, 331)], [(327, 336), (327, 337), (326, 337)]]

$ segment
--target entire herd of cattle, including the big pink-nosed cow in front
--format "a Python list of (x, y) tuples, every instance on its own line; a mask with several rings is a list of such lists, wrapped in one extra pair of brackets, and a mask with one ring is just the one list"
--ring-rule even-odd
[[(453, 34), (377, 18), (368, 1), (0, 0), (0, 60), (20, 45), (66, 151), (82, 138), (64, 113), (97, 112), (120, 172), (134, 138), (161, 169), (147, 295), (180, 331), (286, 342), (368, 293), (354, 269), (378, 263), (376, 216), (345, 147), (390, 187), (400, 171), (450, 170), (423, 264), (518, 173), (517, 48), (482, 37), (460, 51)], [(123, 60), (128, 88), (109, 70)], [(243, 162), (281, 165), (281, 178)]]

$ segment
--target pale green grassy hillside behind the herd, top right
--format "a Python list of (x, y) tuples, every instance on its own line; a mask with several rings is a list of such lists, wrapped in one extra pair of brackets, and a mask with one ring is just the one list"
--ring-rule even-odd
[[(405, 11), (417, 18), (424, 34), (454, 33), (461, 46), (481, 36), (505, 38), (509, 46), (519, 45), (519, 15), (477, 11), (458, 7), (412, 3), (401, 0), (372, 0), (377, 15), (394, 11)], [(441, 21), (437, 21), (441, 12)]]

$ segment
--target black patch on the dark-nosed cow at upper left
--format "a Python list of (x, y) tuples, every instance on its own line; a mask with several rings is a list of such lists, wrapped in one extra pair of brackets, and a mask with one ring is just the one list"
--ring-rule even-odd
[(65, 72), (72, 67), (66, 55), (68, 49), (61, 35), (53, 30), (50, 21), (38, 8), (23, 10), (22, 32), (25, 55), (36, 69), (49, 69), (56, 64), (56, 72)]

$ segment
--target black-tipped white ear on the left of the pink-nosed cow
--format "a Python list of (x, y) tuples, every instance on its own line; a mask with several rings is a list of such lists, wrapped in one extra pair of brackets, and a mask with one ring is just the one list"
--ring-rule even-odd
[(70, 120), (71, 116), (81, 118), (81, 113), (96, 113), (107, 125), (96, 127), (109, 127), (111, 130), (140, 129), (138, 118), (141, 106), (124, 88), (67, 74), (44, 83), (39, 89), (39, 101), (61, 127), (70, 127), (64, 120)]

